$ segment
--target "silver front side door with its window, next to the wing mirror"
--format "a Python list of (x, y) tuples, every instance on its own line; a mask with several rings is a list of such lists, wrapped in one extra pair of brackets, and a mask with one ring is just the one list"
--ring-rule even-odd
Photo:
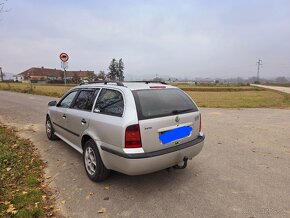
[(66, 111), (72, 105), (77, 93), (77, 90), (69, 92), (58, 102), (54, 110), (50, 112), (54, 130), (62, 137), (65, 137), (67, 133)]

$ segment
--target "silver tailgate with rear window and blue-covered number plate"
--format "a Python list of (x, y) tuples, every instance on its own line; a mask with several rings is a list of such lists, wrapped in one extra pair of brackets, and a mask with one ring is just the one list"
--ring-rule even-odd
[(177, 88), (134, 91), (145, 152), (178, 146), (199, 135), (200, 112)]

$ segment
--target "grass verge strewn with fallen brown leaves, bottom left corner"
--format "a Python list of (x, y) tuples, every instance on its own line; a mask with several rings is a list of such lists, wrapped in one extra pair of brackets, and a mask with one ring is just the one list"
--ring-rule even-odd
[(54, 215), (44, 167), (29, 140), (0, 124), (0, 217)]

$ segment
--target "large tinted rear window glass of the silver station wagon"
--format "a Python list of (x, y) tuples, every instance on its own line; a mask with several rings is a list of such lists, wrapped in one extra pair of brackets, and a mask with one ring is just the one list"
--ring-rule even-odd
[(133, 91), (139, 120), (197, 111), (196, 105), (180, 89)]

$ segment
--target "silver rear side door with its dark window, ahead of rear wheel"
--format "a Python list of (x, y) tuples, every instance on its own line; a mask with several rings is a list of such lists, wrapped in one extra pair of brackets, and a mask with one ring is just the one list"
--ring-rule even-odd
[(82, 89), (66, 111), (66, 138), (81, 148), (81, 137), (88, 128), (95, 98), (100, 89)]

